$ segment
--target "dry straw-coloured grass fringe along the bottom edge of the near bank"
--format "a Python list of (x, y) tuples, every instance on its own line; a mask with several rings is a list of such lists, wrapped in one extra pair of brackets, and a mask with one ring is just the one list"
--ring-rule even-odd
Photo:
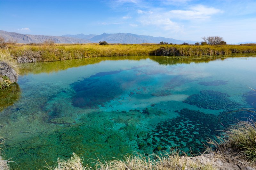
[[(189, 159), (190, 157), (184, 155), (180, 156), (180, 152), (172, 150), (169, 154), (151, 154), (148, 156), (142, 155), (138, 152), (127, 154), (123, 159), (93, 160), (94, 162), (82, 166), (82, 159), (73, 153), (73, 157), (67, 161), (58, 159), (58, 166), (50, 167), (50, 170), (214, 170), (211, 164), (202, 165), (200, 162), (195, 162)], [(94, 165), (94, 166), (90, 166)]]

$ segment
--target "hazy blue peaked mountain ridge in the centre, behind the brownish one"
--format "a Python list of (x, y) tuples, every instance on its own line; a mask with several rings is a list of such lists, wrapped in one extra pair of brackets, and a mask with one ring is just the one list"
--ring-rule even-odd
[(108, 43), (122, 43), (122, 44), (141, 44), (141, 43), (159, 43), (161, 41), (172, 43), (172, 44), (182, 44), (187, 42), (189, 44), (195, 44), (196, 41), (189, 40), (175, 40), (172, 38), (165, 37), (153, 37), (149, 35), (137, 35), (132, 33), (103, 33), (100, 35), (62, 35), (64, 37), (76, 37), (81, 39), (87, 39), (92, 42), (98, 43), (99, 41), (107, 41)]

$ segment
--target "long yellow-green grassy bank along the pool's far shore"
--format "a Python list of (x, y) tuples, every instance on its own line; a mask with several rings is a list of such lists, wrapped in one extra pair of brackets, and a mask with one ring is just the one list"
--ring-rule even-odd
[(231, 53), (256, 53), (255, 45), (32, 44), (9, 45), (8, 48), (18, 63), (49, 62), (99, 56), (163, 55), (209, 58), (209, 56), (213, 55)]

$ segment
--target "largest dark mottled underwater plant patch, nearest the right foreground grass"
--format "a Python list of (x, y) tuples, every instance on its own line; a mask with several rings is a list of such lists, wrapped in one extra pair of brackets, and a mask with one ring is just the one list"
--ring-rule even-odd
[(168, 151), (173, 147), (185, 152), (190, 150), (192, 153), (198, 153), (205, 149), (202, 142), (219, 135), (220, 131), (216, 130), (223, 128), (216, 115), (188, 108), (176, 112), (179, 114), (176, 118), (159, 122), (154, 130), (141, 138), (139, 148), (151, 145), (155, 151)]

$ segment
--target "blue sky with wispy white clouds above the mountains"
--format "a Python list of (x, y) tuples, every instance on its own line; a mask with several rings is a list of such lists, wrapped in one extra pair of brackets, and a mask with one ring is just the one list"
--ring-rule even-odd
[(0, 30), (256, 41), (256, 0), (0, 0)]

